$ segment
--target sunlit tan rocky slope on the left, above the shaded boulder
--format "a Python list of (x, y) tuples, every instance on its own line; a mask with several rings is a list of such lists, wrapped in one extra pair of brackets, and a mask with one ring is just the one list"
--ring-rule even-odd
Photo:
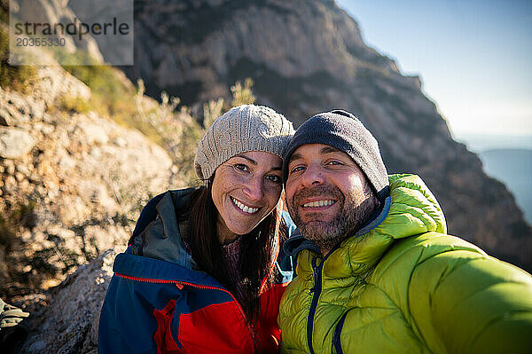
[(30, 94), (0, 88), (0, 296), (58, 285), (129, 239), (140, 208), (168, 189), (168, 153), (75, 102), (90, 90), (40, 67)]

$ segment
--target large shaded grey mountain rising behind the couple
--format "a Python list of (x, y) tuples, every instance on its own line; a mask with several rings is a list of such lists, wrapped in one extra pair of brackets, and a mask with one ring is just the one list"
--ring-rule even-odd
[(135, 66), (148, 93), (192, 104), (254, 79), (258, 103), (299, 125), (343, 108), (378, 138), (389, 172), (414, 172), (442, 204), (449, 232), (532, 270), (532, 229), (505, 186), (455, 142), (418, 77), (364, 44), (332, 0), (157, 0), (136, 4)]

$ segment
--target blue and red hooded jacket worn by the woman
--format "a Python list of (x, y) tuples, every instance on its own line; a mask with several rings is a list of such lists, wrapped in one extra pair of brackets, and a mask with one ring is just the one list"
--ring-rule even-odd
[[(278, 256), (283, 281), (262, 293), (261, 323), (247, 325), (231, 292), (197, 270), (183, 247), (176, 216), (191, 192), (168, 191), (148, 202), (129, 248), (116, 256), (100, 315), (100, 354), (247, 354), (254, 352), (254, 341), (260, 352), (278, 352), (278, 304), (291, 278), (290, 259)], [(287, 213), (283, 218), (292, 233), (292, 220)], [(135, 254), (139, 240), (145, 242), (143, 256)]]

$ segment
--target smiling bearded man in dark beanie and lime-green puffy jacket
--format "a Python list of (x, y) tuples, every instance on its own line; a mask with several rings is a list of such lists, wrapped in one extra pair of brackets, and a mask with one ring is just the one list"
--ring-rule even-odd
[(387, 176), (370, 131), (317, 114), (286, 148), (285, 353), (530, 353), (532, 277), (446, 233), (414, 175)]

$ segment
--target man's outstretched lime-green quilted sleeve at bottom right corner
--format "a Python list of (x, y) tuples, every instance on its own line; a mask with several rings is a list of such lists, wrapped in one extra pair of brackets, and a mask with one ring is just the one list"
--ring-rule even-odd
[(434, 352), (532, 353), (532, 277), (466, 249), (420, 260), (411, 273), (412, 326)]

